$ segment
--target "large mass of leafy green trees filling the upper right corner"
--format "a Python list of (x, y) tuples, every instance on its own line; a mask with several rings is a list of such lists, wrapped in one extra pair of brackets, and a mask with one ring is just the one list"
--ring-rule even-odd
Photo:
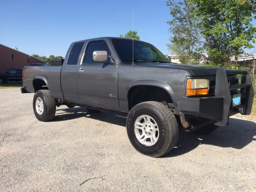
[(256, 27), (253, 0), (168, 0), (172, 44), (186, 39), (190, 54), (208, 54), (212, 63), (235, 60), (244, 48), (253, 48)]

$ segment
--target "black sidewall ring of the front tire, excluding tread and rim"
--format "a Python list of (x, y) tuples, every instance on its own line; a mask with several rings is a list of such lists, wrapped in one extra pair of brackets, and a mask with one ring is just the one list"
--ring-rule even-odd
[[(162, 147), (165, 145), (170, 132), (168, 123), (166, 123), (166, 120), (164, 119), (164, 117), (149, 104), (138, 106), (136, 110), (133, 110), (133, 111), (131, 110), (131, 114), (132, 115), (128, 115), (126, 128), (127, 128), (128, 138), (132, 143), (132, 145), (134, 146), (134, 148), (136, 148), (137, 151), (146, 155), (152, 156), (153, 154), (158, 154), (158, 151), (161, 150)], [(152, 146), (144, 146), (138, 141), (138, 139), (135, 136), (134, 123), (136, 119), (141, 115), (148, 115), (152, 117), (158, 125), (158, 129), (159, 129), (158, 141)]]

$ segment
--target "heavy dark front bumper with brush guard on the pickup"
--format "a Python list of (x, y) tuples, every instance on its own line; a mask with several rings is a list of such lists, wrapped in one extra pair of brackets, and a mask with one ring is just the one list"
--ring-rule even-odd
[[(245, 70), (236, 70), (235, 74), (241, 74), (241, 84), (228, 86), (226, 70), (220, 68), (216, 72), (215, 96), (177, 98), (178, 110), (182, 114), (208, 118), (216, 122), (218, 126), (225, 126), (228, 117), (237, 113), (250, 115), (254, 99), (254, 89), (250, 74)], [(232, 90), (240, 89), (236, 92)], [(241, 104), (232, 105), (235, 94), (241, 94)]]

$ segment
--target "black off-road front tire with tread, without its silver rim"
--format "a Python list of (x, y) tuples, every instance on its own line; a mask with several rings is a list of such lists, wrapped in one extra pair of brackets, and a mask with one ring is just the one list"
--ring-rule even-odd
[[(159, 138), (152, 146), (141, 144), (135, 136), (134, 123), (141, 115), (151, 116), (158, 125)], [(132, 146), (138, 152), (151, 157), (160, 157), (170, 152), (179, 136), (178, 123), (174, 114), (166, 105), (155, 101), (142, 102), (134, 106), (128, 114), (126, 130)]]

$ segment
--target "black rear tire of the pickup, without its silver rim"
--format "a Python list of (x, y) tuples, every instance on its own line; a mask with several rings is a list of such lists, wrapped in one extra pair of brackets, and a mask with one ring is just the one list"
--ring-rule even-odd
[[(44, 110), (42, 115), (39, 115), (36, 112), (36, 99), (40, 97), (43, 100), (43, 104), (44, 104)], [(39, 121), (42, 122), (46, 122), (46, 121), (50, 121), (54, 119), (55, 113), (56, 113), (56, 102), (55, 99), (52, 98), (52, 96), (50, 95), (50, 91), (49, 90), (38, 90), (36, 91), (36, 93), (34, 94), (34, 98), (33, 98), (33, 110), (34, 110), (34, 114), (36, 116), (36, 118)]]

